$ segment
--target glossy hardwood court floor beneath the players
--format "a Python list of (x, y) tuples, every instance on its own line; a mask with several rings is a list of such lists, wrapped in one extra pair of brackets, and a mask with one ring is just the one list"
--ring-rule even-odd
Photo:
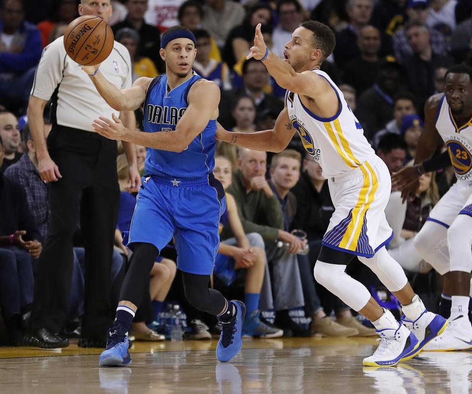
[[(374, 339), (244, 340), (231, 363), (216, 340), (135, 342), (130, 367), (98, 368), (101, 349), (0, 347), (1, 394), (468, 394), (472, 352), (422, 352), (396, 367), (362, 367)], [(58, 357), (60, 356), (60, 357)]]

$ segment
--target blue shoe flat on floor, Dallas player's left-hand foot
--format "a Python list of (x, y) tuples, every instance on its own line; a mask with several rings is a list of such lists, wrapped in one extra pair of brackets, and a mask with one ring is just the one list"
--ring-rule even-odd
[(99, 366), (125, 366), (131, 364), (128, 351), (128, 333), (122, 326), (108, 330), (107, 348), (100, 355)]

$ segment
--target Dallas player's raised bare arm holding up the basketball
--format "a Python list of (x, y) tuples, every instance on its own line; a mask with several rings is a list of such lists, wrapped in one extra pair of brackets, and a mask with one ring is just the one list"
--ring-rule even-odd
[(116, 111), (134, 111), (141, 107), (146, 99), (146, 90), (152, 81), (152, 78), (141, 77), (134, 81), (131, 88), (120, 90), (103, 76), (98, 65), (84, 66), (82, 69), (89, 75), (107, 104)]

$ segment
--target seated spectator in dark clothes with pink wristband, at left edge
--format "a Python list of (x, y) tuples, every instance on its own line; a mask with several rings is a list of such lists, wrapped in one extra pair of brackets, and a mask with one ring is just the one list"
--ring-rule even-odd
[[(0, 138), (1, 142), (1, 138)], [(0, 165), (4, 151), (0, 146)], [(41, 254), (22, 187), (0, 172), (0, 305), (12, 345), (23, 345), (23, 320), (33, 301), (32, 260)], [(24, 237), (24, 239), (23, 239)]]

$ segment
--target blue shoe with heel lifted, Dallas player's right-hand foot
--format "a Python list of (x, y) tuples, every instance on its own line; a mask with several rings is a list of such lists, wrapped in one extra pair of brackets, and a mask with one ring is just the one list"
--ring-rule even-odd
[(239, 352), (242, 346), (242, 325), (246, 306), (240, 301), (230, 301), (236, 308), (236, 313), (228, 322), (221, 322), (221, 334), (216, 346), (216, 358), (221, 362), (228, 362)]

